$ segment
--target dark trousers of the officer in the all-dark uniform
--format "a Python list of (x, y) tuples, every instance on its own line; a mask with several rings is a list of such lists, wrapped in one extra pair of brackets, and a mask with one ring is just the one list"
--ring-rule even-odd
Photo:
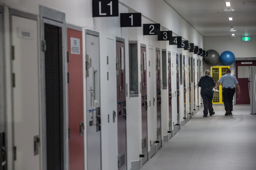
[(202, 90), (200, 92), (202, 98), (203, 98), (203, 114), (207, 115), (208, 110), (209, 113), (213, 113), (213, 91), (209, 90)]

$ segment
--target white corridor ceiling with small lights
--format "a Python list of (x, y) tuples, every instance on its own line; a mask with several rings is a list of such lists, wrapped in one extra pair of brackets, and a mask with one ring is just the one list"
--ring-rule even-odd
[[(203, 36), (256, 35), (256, 0), (164, 1)], [(225, 1), (231, 2), (231, 11), (225, 10)]]

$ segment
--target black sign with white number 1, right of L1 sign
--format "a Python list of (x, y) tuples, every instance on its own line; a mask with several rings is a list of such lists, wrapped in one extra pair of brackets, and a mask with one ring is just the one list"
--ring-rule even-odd
[(141, 13), (121, 13), (121, 27), (141, 27)]

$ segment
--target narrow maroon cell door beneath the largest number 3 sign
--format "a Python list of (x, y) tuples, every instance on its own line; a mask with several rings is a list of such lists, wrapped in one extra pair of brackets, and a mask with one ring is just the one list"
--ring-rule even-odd
[(161, 143), (161, 75), (160, 75), (160, 51), (156, 50), (156, 137), (157, 148), (160, 149)]

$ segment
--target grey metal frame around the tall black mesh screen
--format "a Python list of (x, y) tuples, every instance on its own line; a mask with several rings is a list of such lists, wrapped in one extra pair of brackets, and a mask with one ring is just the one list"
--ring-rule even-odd
[(39, 5), (39, 15), (40, 15), (40, 57), (41, 57), (41, 108), (42, 108), (42, 166), (43, 170), (47, 169), (47, 148), (46, 148), (46, 95), (45, 95), (45, 67), (44, 67), (44, 51), (42, 50), (42, 40), (44, 39), (44, 24), (52, 24), (54, 26), (61, 28), (61, 41), (62, 41), (62, 84), (63, 87), (63, 160), (61, 164), (64, 167), (64, 170), (68, 170), (69, 167), (69, 160), (68, 160), (68, 84), (67, 84), (67, 57), (66, 57), (66, 47), (67, 47), (67, 28), (65, 23), (65, 14), (45, 7), (43, 5)]

